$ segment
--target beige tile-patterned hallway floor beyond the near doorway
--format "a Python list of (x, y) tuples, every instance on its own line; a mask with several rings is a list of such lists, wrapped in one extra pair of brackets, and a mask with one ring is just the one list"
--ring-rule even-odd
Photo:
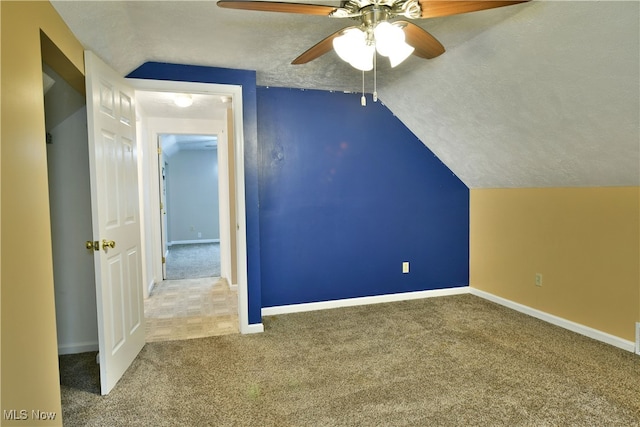
[(164, 280), (144, 302), (146, 340), (237, 334), (238, 294), (225, 279)]

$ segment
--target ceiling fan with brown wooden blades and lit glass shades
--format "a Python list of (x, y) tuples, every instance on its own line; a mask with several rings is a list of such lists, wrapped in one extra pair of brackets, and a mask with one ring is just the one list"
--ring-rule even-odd
[(391, 22), (394, 18), (442, 17), (526, 1), (529, 0), (345, 0), (340, 1), (337, 7), (249, 0), (220, 0), (217, 4), (229, 9), (300, 13), (359, 21), (358, 25), (343, 28), (326, 37), (294, 59), (292, 64), (306, 64), (334, 48), (353, 67), (369, 71), (374, 68), (376, 51), (388, 57), (392, 67), (411, 54), (432, 59), (445, 51), (444, 46), (427, 31), (409, 21)]

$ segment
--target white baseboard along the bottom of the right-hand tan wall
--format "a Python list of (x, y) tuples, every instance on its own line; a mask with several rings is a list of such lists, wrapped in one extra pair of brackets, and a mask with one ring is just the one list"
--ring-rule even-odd
[(597, 329), (593, 329), (588, 326), (581, 325), (580, 323), (563, 319), (562, 317), (554, 316), (553, 314), (545, 313), (544, 311), (540, 311), (535, 308), (531, 308), (526, 305), (522, 305), (517, 302), (510, 301), (508, 299), (490, 294), (489, 292), (481, 291), (479, 289), (469, 288), (469, 293), (471, 293), (472, 295), (476, 295), (480, 298), (486, 299), (488, 301), (495, 302), (496, 304), (503, 305), (512, 310), (516, 310), (521, 313), (527, 314), (529, 316), (535, 317), (536, 319), (544, 320), (545, 322), (551, 323), (556, 326), (560, 326), (561, 328), (568, 329), (580, 335), (584, 335), (594, 340), (612, 345), (614, 347), (618, 347), (623, 350), (630, 351), (632, 353), (635, 350), (634, 342), (627, 341), (620, 337), (616, 337), (615, 335), (611, 335), (606, 332), (602, 332)]

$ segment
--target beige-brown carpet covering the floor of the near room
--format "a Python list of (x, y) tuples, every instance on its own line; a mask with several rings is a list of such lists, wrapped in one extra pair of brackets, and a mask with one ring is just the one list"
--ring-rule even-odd
[(472, 295), (264, 325), (148, 343), (108, 396), (62, 356), (65, 426), (640, 425), (640, 357)]

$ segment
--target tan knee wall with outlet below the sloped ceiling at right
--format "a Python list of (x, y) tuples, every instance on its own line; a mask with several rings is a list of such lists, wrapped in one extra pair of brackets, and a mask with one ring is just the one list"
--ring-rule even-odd
[(476, 189), (470, 197), (471, 287), (635, 341), (639, 187)]

